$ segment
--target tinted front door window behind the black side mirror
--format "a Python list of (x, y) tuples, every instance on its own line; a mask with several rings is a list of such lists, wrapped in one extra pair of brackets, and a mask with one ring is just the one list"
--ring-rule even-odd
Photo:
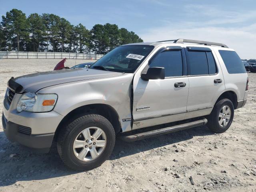
[(182, 76), (182, 56), (180, 50), (164, 51), (157, 54), (150, 67), (164, 67), (166, 77)]

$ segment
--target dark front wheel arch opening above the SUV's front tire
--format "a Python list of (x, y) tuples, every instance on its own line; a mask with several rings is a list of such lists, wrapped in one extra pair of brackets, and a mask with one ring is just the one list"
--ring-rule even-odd
[(101, 115), (110, 121), (116, 133), (122, 131), (118, 113), (113, 107), (108, 104), (88, 104), (75, 108), (64, 116), (55, 131), (54, 139), (56, 140), (63, 126), (86, 114)]

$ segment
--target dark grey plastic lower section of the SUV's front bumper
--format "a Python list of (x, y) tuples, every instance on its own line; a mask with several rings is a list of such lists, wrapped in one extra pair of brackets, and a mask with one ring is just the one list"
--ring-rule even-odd
[(48, 152), (50, 150), (54, 133), (38, 135), (20, 133), (18, 131), (20, 125), (8, 121), (4, 114), (2, 114), (2, 125), (4, 134), (9, 140), (18, 142), (38, 152)]

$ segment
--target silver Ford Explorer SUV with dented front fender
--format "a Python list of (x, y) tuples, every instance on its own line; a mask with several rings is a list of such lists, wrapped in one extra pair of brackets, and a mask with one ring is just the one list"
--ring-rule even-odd
[(43, 152), (56, 140), (67, 166), (89, 170), (110, 156), (117, 135), (136, 141), (207, 122), (225, 132), (247, 94), (244, 65), (224, 44), (127, 44), (90, 68), (11, 78), (2, 124), (7, 138)]

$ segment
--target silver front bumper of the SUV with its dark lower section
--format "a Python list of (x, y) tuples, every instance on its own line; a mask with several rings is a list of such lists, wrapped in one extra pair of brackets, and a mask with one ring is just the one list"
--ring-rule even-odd
[(4, 98), (2, 124), (6, 137), (38, 152), (48, 152), (54, 132), (64, 116), (55, 111), (44, 113), (17, 112), (16, 105), (22, 94), (16, 93), (11, 104)]

